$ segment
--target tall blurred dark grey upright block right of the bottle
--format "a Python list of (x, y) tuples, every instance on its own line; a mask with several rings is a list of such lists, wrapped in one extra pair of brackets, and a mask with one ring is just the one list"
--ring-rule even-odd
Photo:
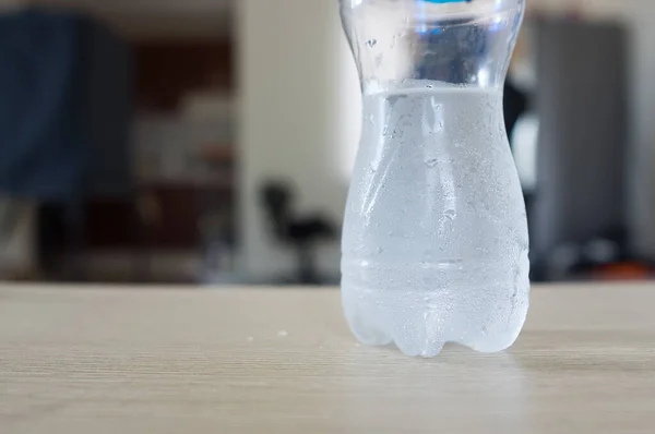
[(630, 234), (621, 229), (616, 237), (614, 229), (628, 227), (628, 35), (615, 24), (547, 17), (535, 31), (533, 278), (564, 279), (553, 272), (562, 267), (558, 262), (584, 263), (584, 254), (571, 252), (597, 240), (609, 240), (621, 260), (631, 258)]

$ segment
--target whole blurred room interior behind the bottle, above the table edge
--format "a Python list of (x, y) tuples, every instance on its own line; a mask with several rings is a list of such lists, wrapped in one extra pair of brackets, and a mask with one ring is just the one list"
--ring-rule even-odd
[[(533, 279), (655, 276), (655, 3), (529, 0), (505, 122)], [(0, 279), (336, 285), (336, 0), (0, 0)]]

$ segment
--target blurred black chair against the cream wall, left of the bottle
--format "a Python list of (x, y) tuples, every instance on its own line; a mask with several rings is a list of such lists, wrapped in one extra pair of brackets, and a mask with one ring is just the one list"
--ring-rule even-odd
[(321, 240), (333, 240), (337, 230), (329, 219), (319, 214), (294, 215), (295, 192), (290, 184), (281, 181), (266, 182), (261, 189), (261, 201), (269, 217), (274, 237), (295, 249), (298, 272), (294, 282), (320, 285), (315, 263), (315, 246)]

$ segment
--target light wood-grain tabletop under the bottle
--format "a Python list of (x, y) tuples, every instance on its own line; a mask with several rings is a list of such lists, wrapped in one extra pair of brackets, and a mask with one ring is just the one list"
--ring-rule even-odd
[(532, 302), (509, 352), (421, 360), (336, 290), (0, 286), (0, 433), (655, 433), (655, 285)]

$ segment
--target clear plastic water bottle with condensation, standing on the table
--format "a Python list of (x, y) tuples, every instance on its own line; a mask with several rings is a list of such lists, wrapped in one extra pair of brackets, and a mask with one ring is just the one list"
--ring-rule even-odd
[(525, 205), (502, 112), (524, 0), (341, 0), (364, 94), (343, 233), (366, 345), (495, 352), (528, 309)]

